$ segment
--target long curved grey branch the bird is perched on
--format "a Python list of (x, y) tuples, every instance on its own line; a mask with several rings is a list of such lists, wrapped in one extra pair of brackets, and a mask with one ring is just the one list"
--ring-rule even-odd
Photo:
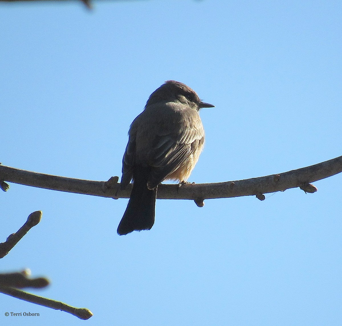
[[(342, 172), (342, 156), (315, 165), (279, 174), (245, 180), (227, 181), (211, 184), (185, 184), (158, 186), (158, 199), (191, 199), (201, 206), (204, 199), (257, 196), (263, 200), (264, 193), (284, 191), (301, 187), (306, 192), (314, 192), (316, 187), (310, 183)], [(129, 198), (132, 185), (119, 190), (118, 177), (108, 181), (73, 179), (37, 172), (19, 170), (0, 165), (0, 180), (51, 190), (81, 193), (85, 195)]]

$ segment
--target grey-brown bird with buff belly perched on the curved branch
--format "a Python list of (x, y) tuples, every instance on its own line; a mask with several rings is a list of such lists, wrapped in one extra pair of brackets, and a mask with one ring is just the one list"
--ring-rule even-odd
[(187, 180), (204, 144), (198, 112), (212, 107), (175, 80), (168, 80), (150, 95), (144, 111), (131, 124), (123, 155), (120, 188), (125, 189), (133, 179), (133, 189), (119, 235), (152, 228), (158, 185), (166, 179)]

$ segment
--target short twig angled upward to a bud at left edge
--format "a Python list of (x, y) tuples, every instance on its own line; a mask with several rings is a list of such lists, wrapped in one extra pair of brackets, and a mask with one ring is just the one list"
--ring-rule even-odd
[(25, 224), (16, 233), (11, 234), (5, 242), (0, 243), (0, 258), (7, 255), (28, 230), (40, 222), (41, 217), (41, 211), (36, 211), (28, 215)]

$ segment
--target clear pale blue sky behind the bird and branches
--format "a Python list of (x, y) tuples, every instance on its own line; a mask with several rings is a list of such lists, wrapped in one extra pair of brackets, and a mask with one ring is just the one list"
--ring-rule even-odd
[[(133, 119), (165, 80), (192, 87), (206, 146), (189, 181), (281, 173), (341, 155), (340, 1), (97, 1), (0, 6), (3, 165), (121, 176)], [(157, 200), (152, 230), (119, 237), (127, 199), (11, 184), (0, 241), (43, 211), (1, 260), (46, 275), (2, 295), (6, 325), (341, 325), (341, 181), (266, 200)], [(33, 292), (33, 291), (32, 291)], [(9, 312), (39, 317), (5, 317)]]

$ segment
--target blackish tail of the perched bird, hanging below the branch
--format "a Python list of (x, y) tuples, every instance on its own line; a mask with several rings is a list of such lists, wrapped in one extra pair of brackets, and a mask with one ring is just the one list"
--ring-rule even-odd
[(154, 224), (157, 187), (147, 188), (147, 168), (136, 168), (133, 175), (133, 189), (127, 208), (118, 226), (118, 234), (149, 230)]

